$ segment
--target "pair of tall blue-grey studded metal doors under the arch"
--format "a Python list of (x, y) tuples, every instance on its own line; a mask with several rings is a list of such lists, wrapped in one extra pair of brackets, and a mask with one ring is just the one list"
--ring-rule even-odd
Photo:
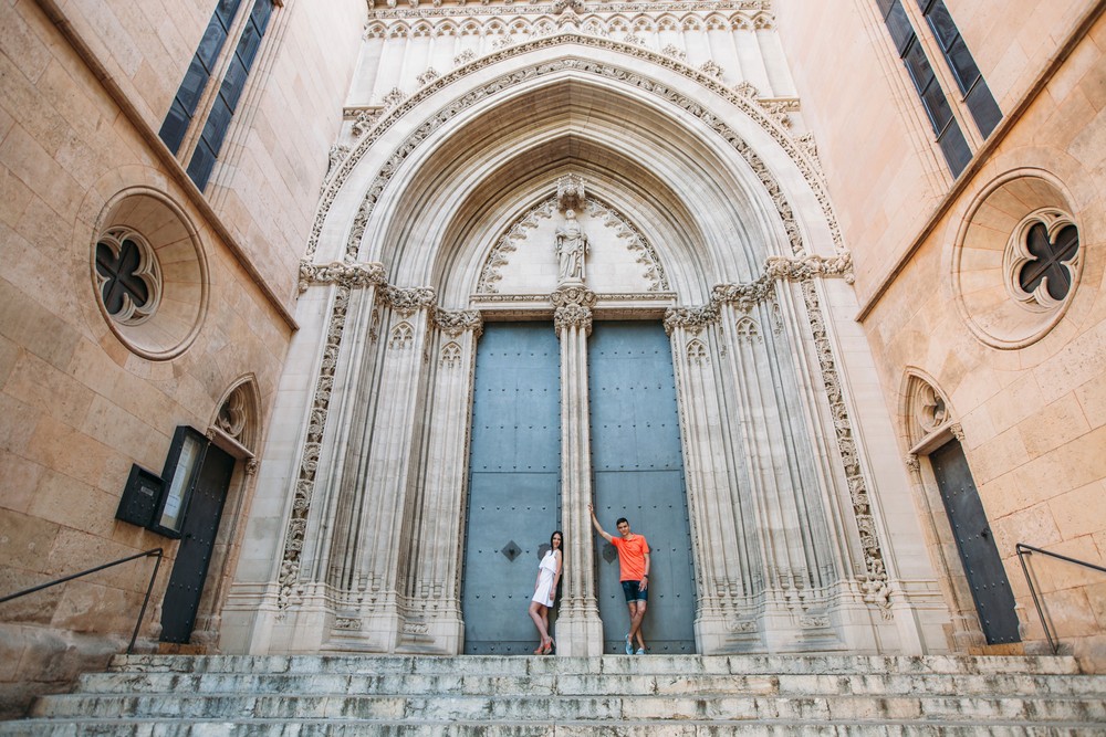
[[(538, 562), (561, 527), (560, 345), (549, 323), (486, 325), (477, 351), (462, 608), (466, 653), (532, 652), (526, 611)], [(649, 541), (645, 636), (695, 652), (695, 585), (669, 341), (659, 323), (596, 323), (588, 340), (593, 494), (615, 534)], [(623, 652), (628, 614), (614, 548), (597, 535), (604, 650)], [(565, 575), (571, 575), (572, 565)], [(554, 609), (555, 617), (555, 609)], [(555, 635), (554, 635), (555, 636)]]

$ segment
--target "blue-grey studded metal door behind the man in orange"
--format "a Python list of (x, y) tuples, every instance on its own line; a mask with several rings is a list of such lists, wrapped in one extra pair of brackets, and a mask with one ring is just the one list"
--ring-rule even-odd
[[(596, 323), (587, 346), (599, 524), (617, 535), (626, 517), (649, 543), (649, 603), (643, 631), (650, 652), (695, 652), (695, 575), (672, 354), (659, 323)], [(629, 624), (608, 543), (596, 558), (604, 651), (623, 652)]]

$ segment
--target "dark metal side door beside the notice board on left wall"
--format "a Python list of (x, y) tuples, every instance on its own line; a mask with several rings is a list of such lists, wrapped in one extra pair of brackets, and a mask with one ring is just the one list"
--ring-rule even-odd
[(180, 547), (161, 602), (161, 642), (186, 643), (192, 635), (234, 459), (208, 445), (185, 510)]

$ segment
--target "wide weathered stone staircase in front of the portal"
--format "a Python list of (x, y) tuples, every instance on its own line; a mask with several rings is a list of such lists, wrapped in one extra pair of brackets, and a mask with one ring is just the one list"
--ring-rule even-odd
[(128, 655), (0, 735), (1106, 735), (1070, 657)]

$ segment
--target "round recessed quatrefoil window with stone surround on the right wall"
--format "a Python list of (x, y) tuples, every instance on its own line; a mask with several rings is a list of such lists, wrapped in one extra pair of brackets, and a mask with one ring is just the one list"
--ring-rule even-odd
[(981, 341), (1023, 348), (1052, 330), (1079, 287), (1079, 227), (1061, 186), (1010, 172), (977, 199), (953, 248), (957, 308)]

